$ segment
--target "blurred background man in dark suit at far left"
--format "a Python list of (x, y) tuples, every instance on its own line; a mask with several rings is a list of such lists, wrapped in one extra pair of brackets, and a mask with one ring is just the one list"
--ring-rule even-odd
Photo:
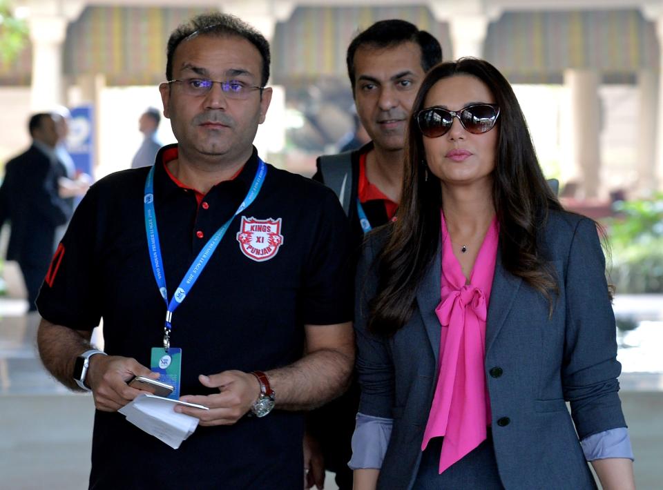
[(8, 161), (0, 187), (0, 226), (11, 224), (7, 259), (18, 262), (28, 291), (28, 311), (35, 311), (35, 300), (44, 281), (55, 248), (55, 230), (64, 225), (71, 206), (59, 194), (59, 179), (64, 166), (57, 159), (56, 121), (41, 112), (28, 123), (32, 144), (21, 155)]

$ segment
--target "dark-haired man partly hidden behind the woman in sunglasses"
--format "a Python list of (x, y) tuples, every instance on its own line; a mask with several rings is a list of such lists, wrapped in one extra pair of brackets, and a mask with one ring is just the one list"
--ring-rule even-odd
[[(357, 115), (372, 141), (352, 152), (318, 158), (313, 178), (338, 195), (356, 251), (365, 233), (394, 218), (403, 183), (410, 110), (425, 72), (440, 61), (439, 42), (402, 20), (374, 23), (347, 48)], [(347, 462), (352, 455), (350, 439), (358, 398), (354, 384), (342, 398), (314, 412), (308, 424), (309, 435), (320, 443), (325, 465), (336, 472), (341, 490), (352, 489)], [(313, 473), (322, 475), (318, 469)]]

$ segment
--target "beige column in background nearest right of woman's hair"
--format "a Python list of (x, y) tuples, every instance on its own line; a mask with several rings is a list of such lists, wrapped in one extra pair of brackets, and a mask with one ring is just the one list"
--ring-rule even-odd
[(577, 197), (597, 197), (601, 166), (599, 73), (594, 70), (566, 70), (564, 84), (568, 88), (569, 104), (562, 115), (561, 125), (569, 130), (567, 154), (571, 167), (566, 172), (563, 170), (564, 177), (577, 177)]

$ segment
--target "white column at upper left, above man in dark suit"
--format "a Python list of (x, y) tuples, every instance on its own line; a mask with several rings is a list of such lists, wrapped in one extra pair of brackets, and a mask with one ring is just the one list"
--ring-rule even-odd
[(62, 45), (67, 19), (56, 15), (32, 15), (28, 18), (32, 41), (33, 111), (49, 110), (64, 102)]

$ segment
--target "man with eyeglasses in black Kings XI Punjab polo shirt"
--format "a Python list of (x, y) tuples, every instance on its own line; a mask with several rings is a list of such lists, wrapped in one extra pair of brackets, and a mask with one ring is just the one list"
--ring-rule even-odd
[[(178, 144), (77, 208), (37, 301), (41, 357), (93, 391), (90, 487), (301, 488), (296, 411), (334, 398), (352, 371), (345, 216), (332, 191), (252, 146), (271, 99), (262, 35), (196, 17), (171, 35), (166, 77)], [(107, 355), (89, 344), (100, 317)], [(182, 350), (182, 400), (210, 408), (178, 407), (200, 424), (177, 451), (116, 413), (167, 344)]]

